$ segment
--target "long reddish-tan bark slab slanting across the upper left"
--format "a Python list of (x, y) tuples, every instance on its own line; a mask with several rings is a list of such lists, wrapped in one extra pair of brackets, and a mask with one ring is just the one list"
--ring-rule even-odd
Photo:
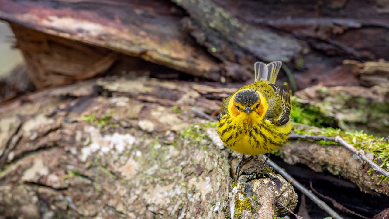
[[(137, 4), (107, 0), (48, 3), (33, 0), (0, 0), (0, 19), (48, 35), (140, 57), (187, 74), (212, 80), (219, 79), (219, 64), (203, 48), (199, 48), (189, 35), (182, 32), (181, 10), (169, 1), (147, 0), (146, 2)], [(153, 7), (145, 5), (153, 5)], [(42, 58), (30, 57), (31, 49), (42, 52), (51, 49), (52, 41), (41, 42), (41, 38), (33, 38), (30, 35), (24, 37), (30, 41), (39, 41), (38, 44), (30, 45), (28, 48), (21, 47), (27, 60)], [(68, 41), (67, 44), (72, 41)], [(23, 42), (25, 41), (21, 43)], [(34, 61), (37, 60), (31, 60)], [(46, 62), (37, 62), (33, 65), (38, 66), (32, 69), (47, 67)], [(50, 71), (46, 70), (45, 73)], [(86, 72), (80, 71), (79, 74), (86, 74)]]

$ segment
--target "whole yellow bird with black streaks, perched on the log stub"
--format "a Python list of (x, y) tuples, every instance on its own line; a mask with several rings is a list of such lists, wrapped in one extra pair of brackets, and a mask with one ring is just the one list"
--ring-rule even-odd
[(282, 62), (256, 62), (254, 83), (245, 85), (224, 100), (217, 132), (232, 150), (242, 153), (237, 177), (245, 154), (269, 152), (265, 162), (249, 169), (265, 168), (270, 152), (281, 147), (291, 131), (291, 100), (288, 92), (274, 85)]

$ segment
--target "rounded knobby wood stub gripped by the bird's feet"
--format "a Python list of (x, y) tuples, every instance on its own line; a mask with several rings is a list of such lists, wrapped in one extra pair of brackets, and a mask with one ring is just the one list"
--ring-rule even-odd
[[(247, 162), (243, 169), (256, 166), (264, 161), (265, 159), (259, 156), (259, 159)], [(235, 162), (232, 163), (235, 164)], [(270, 170), (263, 170), (259, 175), (241, 175), (237, 183), (233, 185), (222, 210), (228, 219), (266, 219), (272, 218), (273, 215), (275, 217), (288, 215), (289, 212), (277, 206), (277, 202), (289, 209), (294, 209), (297, 204), (297, 195), (293, 186), (280, 175), (275, 175)]]

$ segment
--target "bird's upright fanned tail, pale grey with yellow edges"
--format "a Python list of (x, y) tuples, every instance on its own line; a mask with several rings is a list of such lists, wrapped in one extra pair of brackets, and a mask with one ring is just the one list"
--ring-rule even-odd
[(255, 79), (254, 82), (268, 82), (274, 84), (277, 79), (278, 72), (281, 69), (282, 62), (270, 62), (265, 64), (263, 62), (256, 62), (254, 64)]

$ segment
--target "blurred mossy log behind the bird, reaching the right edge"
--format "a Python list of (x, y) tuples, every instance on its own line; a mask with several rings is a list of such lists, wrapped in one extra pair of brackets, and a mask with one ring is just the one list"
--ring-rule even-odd
[(298, 113), (292, 114), (298, 122), (389, 136), (388, 83), (370, 88), (314, 86), (295, 95), (300, 98), (294, 99)]

